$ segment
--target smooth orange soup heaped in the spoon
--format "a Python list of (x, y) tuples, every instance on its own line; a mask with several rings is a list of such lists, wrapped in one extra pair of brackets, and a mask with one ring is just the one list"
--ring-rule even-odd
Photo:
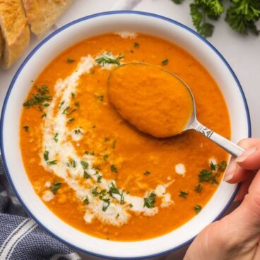
[(108, 93), (124, 119), (155, 137), (182, 132), (193, 112), (191, 93), (184, 83), (159, 66), (117, 67), (110, 74)]

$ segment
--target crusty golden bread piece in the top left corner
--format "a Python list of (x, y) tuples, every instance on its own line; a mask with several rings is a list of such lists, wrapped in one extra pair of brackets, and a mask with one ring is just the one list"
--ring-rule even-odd
[(20, 0), (0, 0), (0, 28), (4, 39), (1, 65), (8, 69), (30, 41), (28, 20)]

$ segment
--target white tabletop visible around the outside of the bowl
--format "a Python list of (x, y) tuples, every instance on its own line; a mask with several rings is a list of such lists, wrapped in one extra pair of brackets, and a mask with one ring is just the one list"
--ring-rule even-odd
[[(82, 16), (120, 8), (132, 8), (135, 11), (157, 13), (193, 28), (189, 16), (189, 2), (189, 0), (186, 0), (184, 4), (176, 5), (170, 0), (75, 0), (52, 30)], [(249, 105), (252, 119), (252, 136), (260, 137), (260, 35), (259, 37), (238, 35), (228, 27), (228, 24), (223, 19), (218, 20), (215, 25), (213, 37), (208, 40), (223, 54), (237, 74)], [(23, 57), (8, 71), (0, 69), (0, 110), (14, 73), (16, 73), (21, 62), (32, 48), (37, 45), (37, 42), (39, 40), (32, 37), (30, 47)], [(186, 249), (185, 247), (179, 252), (168, 255), (167, 260), (182, 259)], [(85, 256), (84, 259), (98, 258)]]

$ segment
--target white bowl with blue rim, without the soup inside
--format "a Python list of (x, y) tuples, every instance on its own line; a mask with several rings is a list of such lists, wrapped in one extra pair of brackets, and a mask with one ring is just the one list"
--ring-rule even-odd
[(111, 259), (141, 259), (172, 252), (191, 242), (206, 225), (221, 217), (232, 202), (237, 185), (222, 182), (199, 215), (166, 235), (138, 242), (101, 240), (64, 223), (45, 206), (35, 194), (26, 175), (19, 146), (20, 116), (31, 81), (67, 47), (85, 37), (121, 30), (162, 37), (175, 42), (196, 57), (215, 78), (225, 97), (230, 113), (232, 141), (237, 143), (240, 139), (251, 136), (249, 111), (242, 87), (228, 62), (215, 47), (175, 20), (152, 13), (113, 11), (87, 16), (64, 25), (42, 40), (28, 55), (14, 76), (4, 101), (1, 114), (1, 155), (18, 199), (47, 232), (88, 254)]

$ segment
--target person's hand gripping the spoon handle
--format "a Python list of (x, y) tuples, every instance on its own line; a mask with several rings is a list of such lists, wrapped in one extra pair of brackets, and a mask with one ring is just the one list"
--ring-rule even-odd
[(187, 250), (184, 260), (260, 259), (260, 139), (249, 138), (239, 145), (246, 151), (232, 158), (224, 180), (242, 182), (235, 201), (240, 206), (225, 218), (208, 225)]

